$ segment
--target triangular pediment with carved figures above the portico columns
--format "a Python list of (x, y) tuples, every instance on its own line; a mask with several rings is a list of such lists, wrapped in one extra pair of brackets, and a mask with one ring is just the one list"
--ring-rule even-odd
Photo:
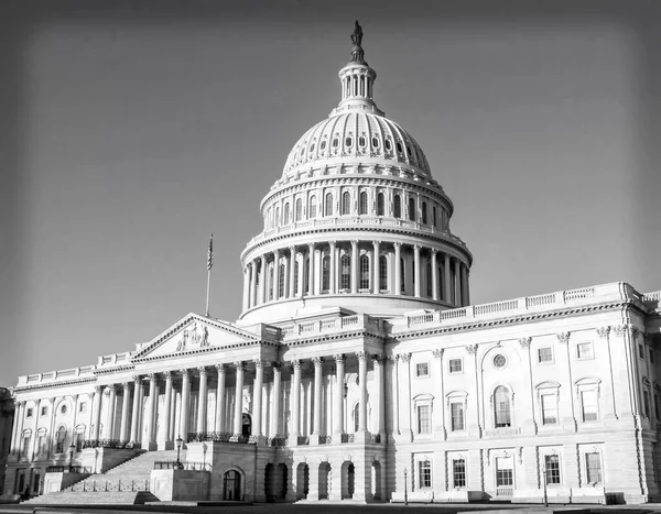
[(143, 345), (131, 360), (152, 360), (231, 348), (259, 341), (258, 335), (227, 321), (189, 314)]

